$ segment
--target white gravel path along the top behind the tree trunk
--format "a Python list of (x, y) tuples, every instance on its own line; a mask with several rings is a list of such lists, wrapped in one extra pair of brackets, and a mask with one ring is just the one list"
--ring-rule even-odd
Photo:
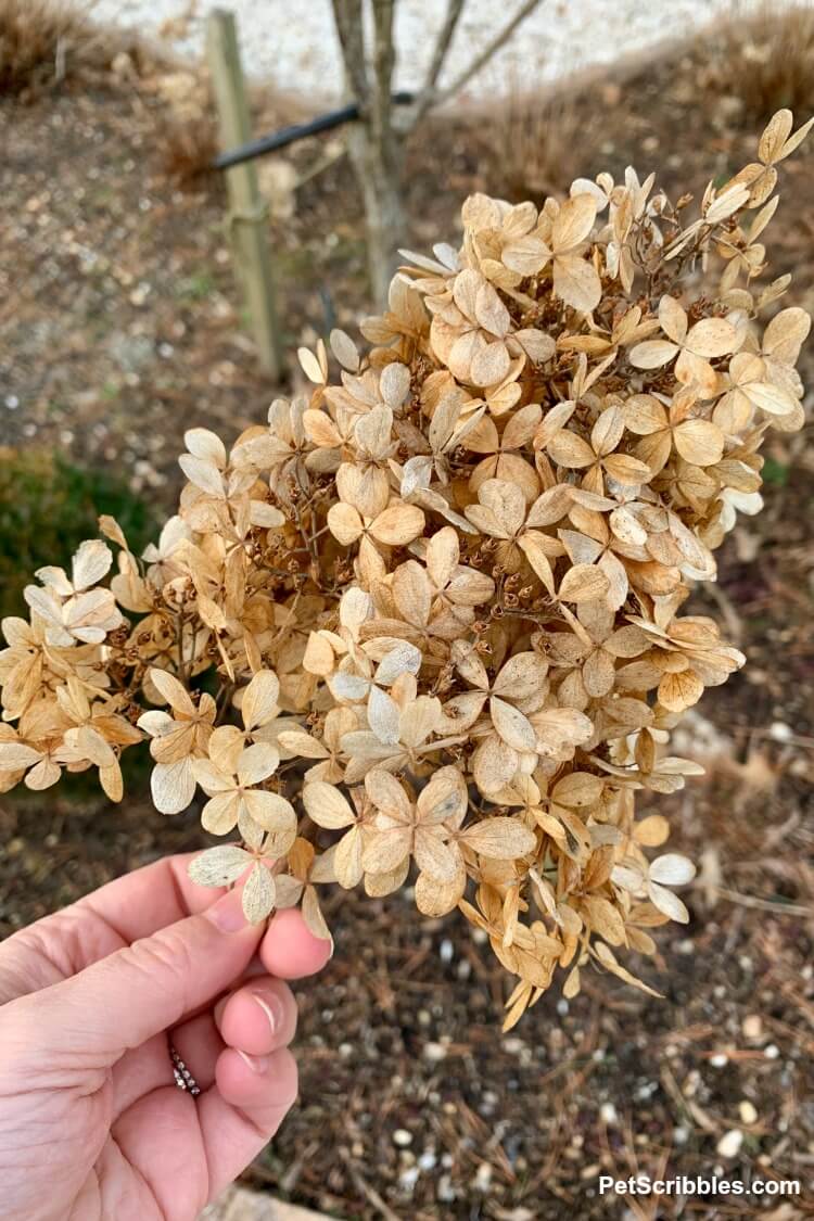
[[(752, 2), (757, 0), (541, 0), (510, 44), (472, 81), (467, 95), (488, 100), (510, 85), (525, 89), (535, 79), (554, 81), (592, 63), (613, 62), (665, 39), (686, 37)], [(519, 4), (466, 0), (445, 79), (454, 79)], [(170, 22), (175, 28), (167, 40), (178, 50), (198, 53), (203, 16), (214, 6), (214, 0), (193, 0), (193, 16), (185, 23), (177, 18), (189, 12), (190, 0), (96, 0), (94, 12), (153, 34), (161, 34)], [(282, 92), (314, 98), (315, 107), (339, 96), (342, 76), (330, 0), (221, 0), (221, 6), (237, 13), (249, 72), (273, 79)], [(445, 7), (445, 0), (398, 0), (397, 87), (408, 89), (421, 81)], [(183, 32), (179, 26), (185, 26)]]

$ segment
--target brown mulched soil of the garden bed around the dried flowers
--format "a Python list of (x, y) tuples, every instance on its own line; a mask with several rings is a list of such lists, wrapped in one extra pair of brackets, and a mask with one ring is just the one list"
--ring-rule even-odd
[[(567, 112), (585, 139), (569, 142), (581, 164), (565, 182), (666, 161), (668, 189), (698, 190), (748, 160), (759, 125), (701, 90), (702, 67), (683, 55), (594, 84)], [(177, 181), (165, 109), (146, 72), (0, 98), (0, 440), (118, 468), (170, 507), (184, 429), (228, 438), (279, 387), (258, 372), (242, 330), (222, 184)], [(289, 350), (365, 311), (359, 201), (336, 147), (293, 214), (272, 220)], [(308, 176), (325, 148), (311, 140), (288, 160)], [(544, 172), (556, 177), (555, 162)], [(414, 245), (454, 238), (460, 200), (499, 190), (503, 164), (497, 121), (425, 128), (408, 175)], [(809, 308), (813, 194), (809, 149), (783, 166), (771, 231), (773, 274), (793, 270), (788, 303)], [(812, 364), (809, 349), (809, 381)], [(301, 1103), (248, 1182), (360, 1221), (812, 1215), (810, 426), (773, 441), (769, 457), (765, 512), (738, 527), (713, 595), (696, 602), (724, 619), (748, 665), (708, 692), (691, 725), (690, 750), (711, 740), (708, 777), (650, 799), (672, 816), (675, 850), (702, 862), (686, 896), (692, 923), (659, 930), (659, 957), (633, 966), (664, 1000), (589, 973), (576, 1000), (554, 988), (502, 1037), (503, 973), (463, 921), (423, 919), (405, 894), (337, 895), (336, 955), (298, 989)], [(111, 808), (54, 792), (0, 799), (0, 840), (4, 934), (203, 842), (194, 810), (167, 819), (139, 796)], [(730, 1137), (719, 1153), (732, 1132), (740, 1144)], [(600, 1175), (716, 1170), (797, 1178), (803, 1194), (764, 1206), (757, 1195), (654, 1203), (598, 1189)]]

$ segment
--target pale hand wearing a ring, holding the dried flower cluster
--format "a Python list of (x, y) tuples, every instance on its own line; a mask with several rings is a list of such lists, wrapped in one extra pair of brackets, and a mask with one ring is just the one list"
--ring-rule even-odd
[[(120, 878), (0, 945), (0, 1216), (194, 1221), (297, 1096), (286, 979), (328, 941), (248, 926), (189, 857)], [(168, 1039), (201, 1088), (173, 1082)]]

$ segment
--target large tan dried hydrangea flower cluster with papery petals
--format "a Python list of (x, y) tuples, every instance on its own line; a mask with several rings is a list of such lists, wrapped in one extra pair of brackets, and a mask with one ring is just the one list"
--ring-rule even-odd
[[(694, 219), (600, 173), (564, 203), (474, 195), (456, 252), (408, 254), (361, 357), (301, 349), (314, 389), (277, 399), (227, 452), (187, 433), (177, 516), (142, 559), (115, 521), (68, 576), (41, 569), (0, 654), (0, 780), (98, 768), (150, 739), (166, 814), (240, 842), (193, 877), (244, 878), (251, 919), (319, 888), (402, 886), (459, 907), (517, 977), (506, 1026), (593, 960), (687, 911), (690, 861), (660, 814), (701, 768), (665, 751), (705, 686), (743, 663), (681, 613), (738, 512), (760, 443), (798, 429), (803, 310), (755, 291), (781, 111), (758, 161)], [(701, 271), (705, 271), (702, 287)], [(639, 987), (644, 987), (639, 984)]]

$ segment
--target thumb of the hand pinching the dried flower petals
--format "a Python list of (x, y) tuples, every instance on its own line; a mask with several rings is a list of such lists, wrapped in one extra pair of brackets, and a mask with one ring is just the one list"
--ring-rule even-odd
[[(16, 1051), (22, 1055), (20, 1044), (29, 1038), (38, 1059), (48, 1050), (51, 1063), (62, 1056), (76, 1063), (79, 1054), (85, 1067), (111, 1065), (225, 991), (249, 965), (261, 935), (262, 926), (247, 924), (239, 893), (229, 891), (201, 915), (12, 1001), (6, 1010)], [(24, 1021), (26, 1006), (31, 1021)]]

